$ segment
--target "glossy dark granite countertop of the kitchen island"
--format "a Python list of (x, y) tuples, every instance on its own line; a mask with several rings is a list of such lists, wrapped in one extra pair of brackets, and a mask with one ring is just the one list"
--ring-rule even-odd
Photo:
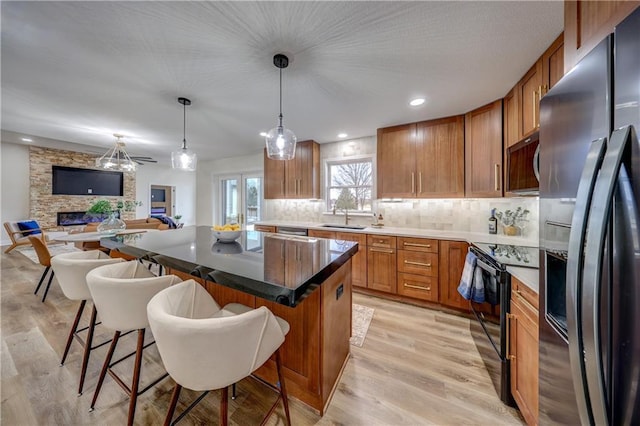
[(358, 251), (351, 241), (243, 231), (222, 243), (209, 226), (107, 237), (100, 244), (287, 306)]

